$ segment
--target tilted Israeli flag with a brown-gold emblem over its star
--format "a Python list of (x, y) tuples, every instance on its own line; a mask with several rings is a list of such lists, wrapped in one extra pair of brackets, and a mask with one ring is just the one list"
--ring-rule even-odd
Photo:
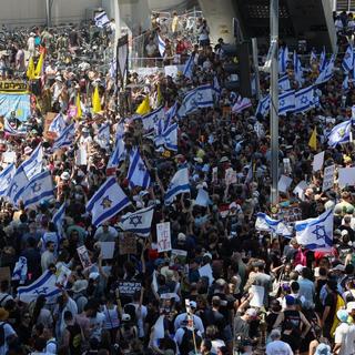
[(99, 226), (129, 204), (131, 202), (116, 183), (115, 178), (110, 176), (90, 199), (87, 211), (92, 215), (92, 224)]

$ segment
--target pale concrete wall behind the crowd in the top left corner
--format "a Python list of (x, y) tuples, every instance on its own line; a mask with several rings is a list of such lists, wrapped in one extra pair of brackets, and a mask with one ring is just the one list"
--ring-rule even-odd
[[(1, 0), (0, 26), (11, 27), (45, 22), (45, 0)], [(101, 7), (102, 0), (53, 0), (52, 22), (79, 22), (85, 10)]]

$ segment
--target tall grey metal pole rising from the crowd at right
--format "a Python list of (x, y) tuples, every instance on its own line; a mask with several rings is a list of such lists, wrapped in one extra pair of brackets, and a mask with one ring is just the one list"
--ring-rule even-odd
[(271, 45), (273, 45), (271, 63), (271, 204), (278, 202), (278, 0), (270, 1)]

